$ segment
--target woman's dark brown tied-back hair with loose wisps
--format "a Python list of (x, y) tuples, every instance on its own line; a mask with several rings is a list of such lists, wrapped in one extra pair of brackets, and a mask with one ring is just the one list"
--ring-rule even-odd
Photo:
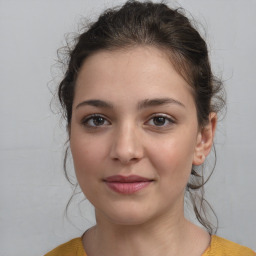
[[(207, 45), (182, 12), (181, 8), (171, 9), (163, 3), (128, 1), (121, 8), (106, 10), (76, 38), (74, 47), (68, 52), (68, 67), (58, 89), (68, 129), (76, 78), (85, 59), (100, 50), (138, 45), (161, 48), (168, 54), (176, 70), (193, 88), (199, 126), (208, 123), (210, 112), (222, 109), (222, 83), (212, 74)], [(209, 206), (203, 197), (206, 181), (203, 173), (192, 168), (187, 192), (198, 221), (209, 233), (214, 233), (204, 210), (205, 205)], [(198, 191), (201, 191), (200, 196)]]

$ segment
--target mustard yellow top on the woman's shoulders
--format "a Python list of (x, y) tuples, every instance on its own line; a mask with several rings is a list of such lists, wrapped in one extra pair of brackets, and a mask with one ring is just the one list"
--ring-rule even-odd
[[(62, 244), (45, 256), (87, 256), (82, 243), (82, 238), (75, 238)], [(202, 256), (256, 256), (251, 249), (213, 235), (210, 246)]]

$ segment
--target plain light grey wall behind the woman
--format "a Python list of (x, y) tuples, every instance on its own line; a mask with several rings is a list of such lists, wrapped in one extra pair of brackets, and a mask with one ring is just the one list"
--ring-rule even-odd
[[(56, 51), (82, 17), (93, 20), (122, 2), (0, 0), (1, 256), (43, 255), (94, 223), (81, 195), (65, 217), (72, 194), (62, 169), (66, 131), (55, 104), (50, 108), (61, 74)], [(227, 90), (218, 162), (206, 187), (218, 235), (256, 249), (256, 1), (169, 3), (183, 6), (205, 28), (213, 69)]]

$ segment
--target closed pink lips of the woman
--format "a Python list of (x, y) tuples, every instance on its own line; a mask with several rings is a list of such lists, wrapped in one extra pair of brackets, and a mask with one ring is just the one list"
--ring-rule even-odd
[(117, 193), (133, 194), (150, 185), (153, 180), (137, 175), (114, 175), (104, 179), (104, 182), (111, 190)]

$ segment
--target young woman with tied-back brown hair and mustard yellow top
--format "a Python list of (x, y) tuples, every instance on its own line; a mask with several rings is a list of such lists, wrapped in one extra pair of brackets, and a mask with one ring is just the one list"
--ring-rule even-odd
[[(97, 224), (54, 255), (255, 255), (213, 235), (196, 203), (224, 100), (207, 46), (179, 10), (127, 2), (82, 33), (59, 98)], [(184, 195), (205, 229), (184, 217)], [(202, 206), (203, 198), (199, 202)]]

